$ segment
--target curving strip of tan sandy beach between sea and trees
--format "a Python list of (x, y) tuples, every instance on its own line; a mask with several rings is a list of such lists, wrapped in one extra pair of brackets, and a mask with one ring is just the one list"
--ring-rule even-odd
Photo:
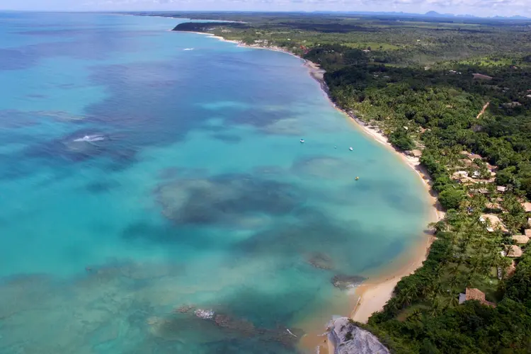
[[(286, 54), (302, 59), (297, 55), (294, 55), (292, 52), (288, 52), (287, 50), (283, 50), (279, 47), (261, 47), (258, 45), (246, 45), (236, 40), (225, 40), (222, 37), (212, 35), (212, 33), (198, 34), (210, 35), (212, 38), (216, 38), (225, 42), (232, 42), (236, 45), (239, 45), (240, 47), (274, 50), (276, 52), (284, 52)], [(409, 167), (411, 167), (411, 169), (413, 169), (413, 171), (415, 171), (417, 175), (421, 178), (423, 184), (425, 185), (428, 198), (430, 200), (430, 210), (428, 210), (429, 217), (426, 224), (428, 224), (429, 222), (437, 222), (443, 219), (445, 213), (442, 211), (442, 207), (440, 207), (440, 204), (437, 200), (437, 196), (431, 188), (431, 178), (426, 169), (421, 166), (419, 159), (408, 156), (404, 154), (404, 152), (400, 152), (394, 149), (394, 147), (392, 147), (392, 145), (389, 143), (387, 137), (385, 137), (382, 132), (377, 130), (377, 128), (370, 127), (365, 122), (362, 122), (361, 120), (349, 114), (345, 110), (338, 108), (338, 106), (331, 101), (328, 86), (326, 86), (326, 83), (324, 81), (325, 72), (319, 67), (319, 65), (316, 65), (313, 62), (309, 62), (308, 60), (304, 60), (304, 67), (307, 67), (310, 76), (312, 76), (312, 78), (319, 82), (324, 95), (326, 96), (326, 98), (329, 99), (331, 105), (333, 105), (334, 108), (343, 113), (346, 118), (348, 118), (348, 120), (352, 123), (355, 129), (361, 130), (366, 135), (370, 136), (372, 139), (375, 139), (380, 144), (384, 144), (385, 147), (391, 149), (392, 152), (396, 154), (396, 156), (399, 156), (401, 160), (404, 161), (404, 163), (406, 163)], [(433, 237), (433, 235), (426, 230), (425, 234), (420, 237), (418, 243), (416, 243), (411, 249), (404, 251), (400, 256), (395, 258), (384, 268), (379, 268), (375, 270), (374, 276), (369, 276), (367, 280), (365, 280), (365, 282), (363, 282), (356, 288), (355, 297), (359, 298), (353, 306), (352, 311), (350, 312), (350, 317), (354, 321), (367, 322), (372, 313), (381, 311), (387, 301), (392, 298), (393, 290), (396, 286), (396, 283), (398, 283), (401, 278), (410, 275), (416, 269), (422, 266), (423, 261), (425, 261), (426, 257), (428, 256), (430, 246), (434, 240), (435, 238)], [(326, 345), (322, 346), (322, 344), (324, 344), (322, 338), (307, 338), (307, 340), (309, 341), (309, 343), (316, 343), (316, 341), (319, 341), (319, 348), (321, 350), (321, 354), (326, 352), (333, 353), (333, 346), (331, 346), (331, 343), (326, 343)]]

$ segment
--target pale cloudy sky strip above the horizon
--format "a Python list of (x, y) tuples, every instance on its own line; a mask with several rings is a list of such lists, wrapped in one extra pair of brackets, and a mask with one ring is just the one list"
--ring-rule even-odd
[[(527, 4), (526, 4), (527, 3)], [(405, 11), (531, 16), (531, 0), (0, 0), (1, 9), (62, 11)]]

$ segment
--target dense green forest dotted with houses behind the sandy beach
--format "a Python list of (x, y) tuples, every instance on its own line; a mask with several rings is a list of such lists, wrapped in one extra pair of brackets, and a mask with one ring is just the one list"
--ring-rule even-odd
[[(168, 16), (241, 21), (176, 29), (282, 47), (319, 64), (340, 108), (396, 149), (421, 152), (446, 216), (433, 224), (423, 267), (365, 328), (394, 353), (531, 353), (530, 23)], [(467, 288), (485, 297), (459, 304)]]

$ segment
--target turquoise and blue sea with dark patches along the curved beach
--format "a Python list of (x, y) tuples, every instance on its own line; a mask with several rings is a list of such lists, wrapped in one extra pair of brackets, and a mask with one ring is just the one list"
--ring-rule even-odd
[(422, 236), (300, 59), (181, 21), (0, 13), (0, 353), (296, 353)]

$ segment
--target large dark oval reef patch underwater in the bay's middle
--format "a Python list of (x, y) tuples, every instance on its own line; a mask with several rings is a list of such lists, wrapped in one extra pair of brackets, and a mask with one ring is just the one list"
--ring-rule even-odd
[(175, 224), (254, 227), (267, 215), (284, 215), (304, 202), (295, 185), (246, 174), (176, 180), (155, 194), (162, 214)]

